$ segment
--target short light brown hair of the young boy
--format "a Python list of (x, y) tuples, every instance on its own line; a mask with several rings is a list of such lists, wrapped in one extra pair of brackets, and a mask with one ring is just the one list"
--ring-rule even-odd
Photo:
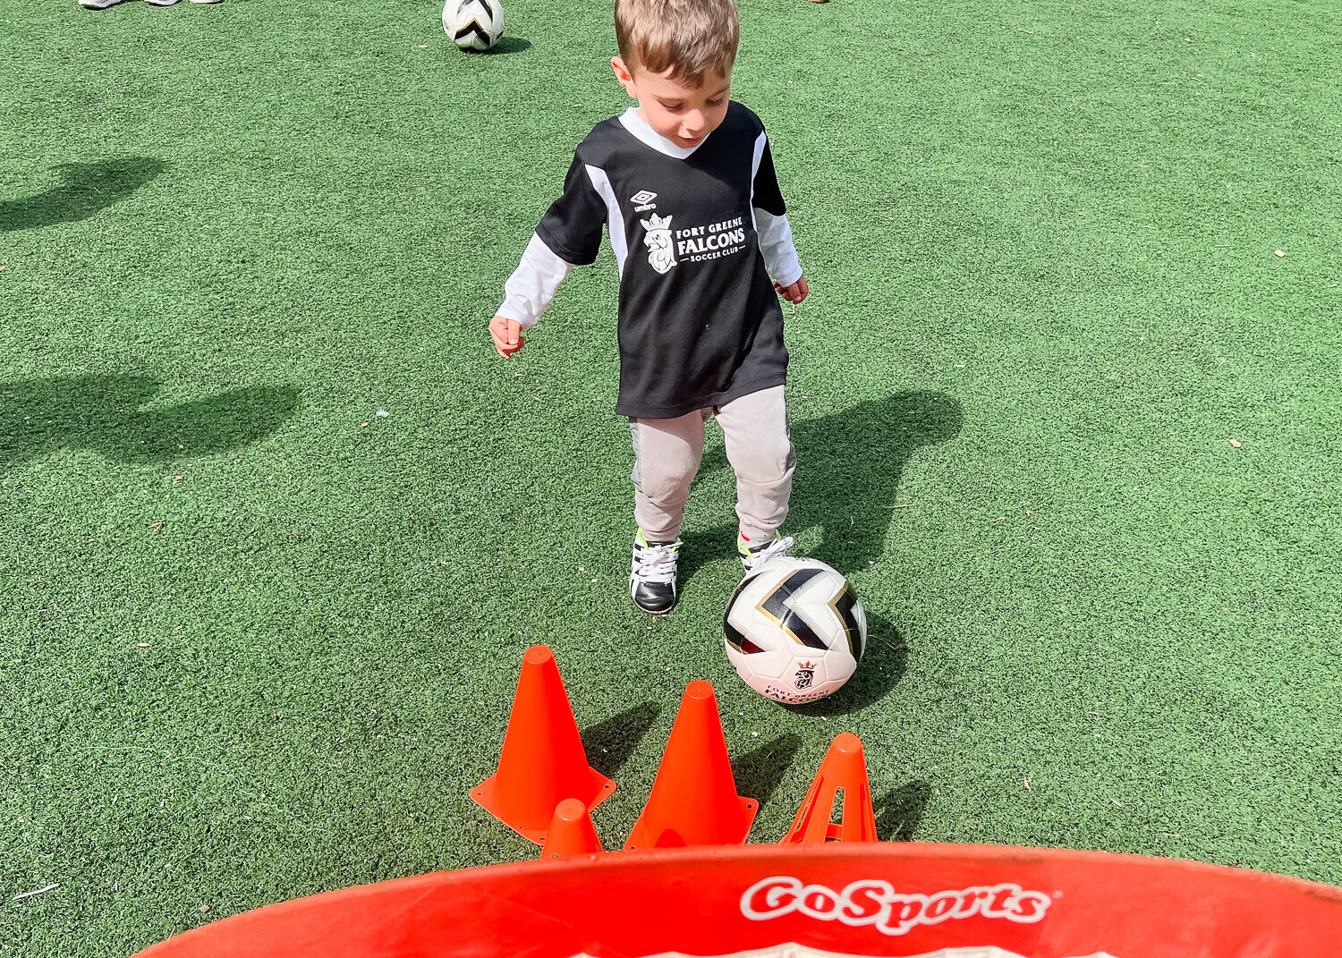
[(672, 79), (696, 86), (731, 72), (741, 24), (731, 0), (616, 0), (615, 39), (631, 72), (674, 70)]

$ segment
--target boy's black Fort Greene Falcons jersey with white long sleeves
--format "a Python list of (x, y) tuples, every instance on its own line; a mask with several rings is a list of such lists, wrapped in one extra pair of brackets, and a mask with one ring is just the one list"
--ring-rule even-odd
[(605, 227), (620, 270), (616, 412), (671, 419), (782, 385), (788, 350), (769, 274), (784, 286), (801, 276), (785, 212), (749, 109), (730, 103), (692, 149), (631, 109), (578, 145), (499, 315), (534, 323), (569, 266), (596, 259)]

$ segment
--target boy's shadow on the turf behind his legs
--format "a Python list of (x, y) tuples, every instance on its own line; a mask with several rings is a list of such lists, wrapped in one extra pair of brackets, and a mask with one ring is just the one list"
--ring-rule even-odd
[[(844, 576), (866, 569), (884, 551), (886, 533), (899, 506), (899, 480), (909, 459), (923, 445), (960, 435), (964, 411), (938, 392), (899, 392), (868, 400), (832, 416), (793, 423), (797, 476), (785, 531), (821, 530), (809, 554)], [(715, 444), (705, 454), (701, 475), (729, 468)], [(735, 554), (735, 533), (709, 530), (686, 537), (682, 577), (705, 562)]]

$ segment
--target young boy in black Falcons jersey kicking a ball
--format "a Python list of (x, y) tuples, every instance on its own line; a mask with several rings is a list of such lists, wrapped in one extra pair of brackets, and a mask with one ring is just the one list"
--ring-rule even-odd
[(490, 334), (505, 358), (522, 349), (521, 330), (573, 266), (596, 259), (607, 228), (620, 271), (616, 412), (629, 419), (635, 454), (629, 592), (663, 615), (678, 598), (680, 519), (710, 417), (737, 474), (746, 573), (792, 545), (777, 531), (796, 454), (774, 291), (800, 303), (807, 280), (764, 125), (727, 98), (739, 34), (733, 0), (616, 0), (615, 21), (611, 64), (639, 105), (578, 144)]

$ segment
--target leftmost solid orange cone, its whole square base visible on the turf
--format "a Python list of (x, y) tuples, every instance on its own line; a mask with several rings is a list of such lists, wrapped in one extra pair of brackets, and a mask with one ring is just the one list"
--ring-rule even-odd
[(541, 844), (561, 801), (577, 798), (590, 812), (612, 792), (615, 782), (588, 766), (554, 653), (533, 645), (522, 659), (498, 771), (471, 789), (471, 798)]

